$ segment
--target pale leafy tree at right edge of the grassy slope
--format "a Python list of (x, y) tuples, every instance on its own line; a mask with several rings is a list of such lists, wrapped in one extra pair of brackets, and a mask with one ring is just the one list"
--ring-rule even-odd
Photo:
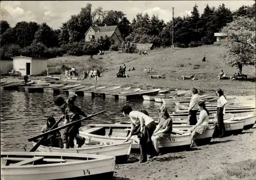
[(242, 73), (243, 65), (255, 65), (255, 21), (237, 17), (221, 31), (227, 36), (222, 39), (224, 50), (218, 53), (223, 62), (237, 66)]

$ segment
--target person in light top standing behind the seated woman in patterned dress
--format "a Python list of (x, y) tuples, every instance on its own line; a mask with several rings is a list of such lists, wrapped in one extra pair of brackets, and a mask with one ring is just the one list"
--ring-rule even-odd
[(196, 125), (197, 124), (197, 111), (198, 111), (198, 103), (200, 98), (198, 96), (198, 90), (196, 88), (191, 88), (190, 92), (192, 93), (191, 100), (189, 102), (188, 107), (188, 125)]

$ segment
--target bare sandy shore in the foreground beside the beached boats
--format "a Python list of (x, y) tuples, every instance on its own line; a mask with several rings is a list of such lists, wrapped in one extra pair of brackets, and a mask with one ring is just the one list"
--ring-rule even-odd
[(238, 136), (212, 139), (209, 145), (193, 151), (163, 154), (142, 164), (138, 154), (131, 154), (128, 164), (119, 165), (115, 176), (118, 180), (206, 178), (222, 171), (225, 163), (255, 158), (255, 135), (255, 129), (246, 130)]

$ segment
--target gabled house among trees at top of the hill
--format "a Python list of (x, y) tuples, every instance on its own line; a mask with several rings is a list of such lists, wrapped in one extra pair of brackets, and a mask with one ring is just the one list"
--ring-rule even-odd
[(115, 43), (123, 41), (122, 34), (117, 26), (91, 26), (85, 34), (85, 41), (90, 41), (92, 38), (98, 39), (100, 36), (108, 36), (113, 39)]

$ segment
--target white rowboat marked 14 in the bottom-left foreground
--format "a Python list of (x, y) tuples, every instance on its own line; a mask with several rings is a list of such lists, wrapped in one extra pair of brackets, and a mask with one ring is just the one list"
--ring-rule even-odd
[[(50, 179), (103, 179), (108, 176), (113, 178), (115, 157), (94, 154), (68, 154), (68, 153), (44, 153), (44, 152), (1, 152), (2, 157), (24, 157), (36, 154), (47, 158), (60, 157), (66, 159), (65, 163), (52, 163), (26, 166), (1, 166), (1, 178), (5, 180), (50, 180)], [(24, 155), (27, 154), (27, 155)], [(87, 161), (79, 161), (81, 157), (88, 157)], [(91, 159), (91, 158), (93, 159)], [(94, 157), (99, 157), (94, 159)], [(74, 159), (74, 160), (73, 160)]]

